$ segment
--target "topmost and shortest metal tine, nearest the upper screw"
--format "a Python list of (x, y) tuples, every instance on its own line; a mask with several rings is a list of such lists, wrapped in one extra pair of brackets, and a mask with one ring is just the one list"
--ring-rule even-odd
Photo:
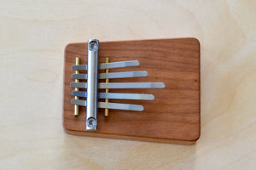
[[(111, 63), (102, 63), (98, 65), (99, 70), (105, 69), (113, 69), (113, 68), (122, 68), (128, 66), (138, 66), (140, 65), (138, 60), (131, 61), (119, 61), (119, 62), (111, 62)], [(88, 65), (72, 65), (73, 71), (87, 71)]]

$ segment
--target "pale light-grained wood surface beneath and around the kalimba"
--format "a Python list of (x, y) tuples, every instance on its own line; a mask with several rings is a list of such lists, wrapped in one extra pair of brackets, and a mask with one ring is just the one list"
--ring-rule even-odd
[[(256, 1), (0, 2), (0, 169), (253, 169)], [(195, 145), (71, 136), (61, 125), (69, 42), (197, 37)]]

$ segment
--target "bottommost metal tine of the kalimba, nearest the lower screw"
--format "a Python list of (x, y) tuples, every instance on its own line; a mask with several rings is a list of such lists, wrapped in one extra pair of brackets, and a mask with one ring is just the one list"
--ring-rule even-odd
[[(87, 106), (87, 101), (82, 99), (72, 99), (71, 103), (73, 105)], [(126, 111), (143, 111), (144, 110), (143, 105), (106, 103), (106, 102), (98, 102), (97, 107), (116, 109), (116, 110), (126, 110)]]

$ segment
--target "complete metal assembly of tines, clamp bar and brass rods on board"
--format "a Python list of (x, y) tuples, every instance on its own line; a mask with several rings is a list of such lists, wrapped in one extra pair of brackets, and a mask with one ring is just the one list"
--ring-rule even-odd
[[(105, 116), (108, 117), (108, 109), (126, 110), (126, 111), (143, 111), (143, 105), (111, 103), (108, 99), (139, 99), (154, 100), (153, 94), (123, 94), (109, 93), (108, 89), (113, 88), (165, 88), (163, 82), (109, 82), (113, 78), (131, 78), (147, 77), (147, 71), (125, 71), (110, 72), (109, 69), (124, 68), (140, 65), (138, 60), (109, 62), (98, 64), (99, 41), (90, 39), (88, 41), (88, 65), (79, 65), (79, 58), (76, 59), (76, 65), (72, 70), (76, 71), (72, 75), (75, 82), (70, 83), (71, 88), (75, 88), (72, 95), (75, 99), (71, 101), (75, 105), (75, 116), (79, 115), (79, 105), (86, 107), (86, 130), (95, 131), (97, 127), (97, 108), (105, 109)], [(98, 74), (98, 70), (106, 70), (105, 73)], [(87, 71), (80, 73), (79, 71)], [(98, 79), (106, 79), (105, 82), (98, 82)], [(79, 80), (81, 82), (79, 82)], [(87, 82), (84, 82), (84, 80)], [(87, 91), (79, 91), (79, 88), (86, 88)], [(98, 93), (98, 89), (105, 89), (105, 93)], [(79, 99), (79, 98), (86, 98)], [(99, 102), (98, 99), (105, 99), (105, 102)]]

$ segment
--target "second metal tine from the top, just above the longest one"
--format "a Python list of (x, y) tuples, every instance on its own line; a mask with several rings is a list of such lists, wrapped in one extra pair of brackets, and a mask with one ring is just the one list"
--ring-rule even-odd
[[(111, 79), (111, 78), (129, 78), (129, 77), (147, 77), (147, 71), (126, 71), (126, 72), (111, 72), (100, 73), (99, 79)], [(87, 74), (73, 74), (73, 79), (87, 80)]]

